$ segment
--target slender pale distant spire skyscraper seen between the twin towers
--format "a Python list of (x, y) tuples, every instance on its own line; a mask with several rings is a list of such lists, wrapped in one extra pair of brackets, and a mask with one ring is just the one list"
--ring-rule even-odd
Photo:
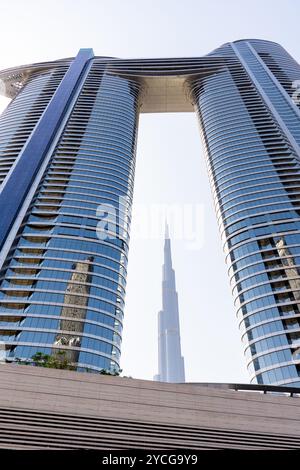
[(166, 224), (162, 280), (162, 306), (158, 314), (159, 382), (185, 382), (184, 359), (181, 355), (178, 297), (172, 267), (171, 240)]

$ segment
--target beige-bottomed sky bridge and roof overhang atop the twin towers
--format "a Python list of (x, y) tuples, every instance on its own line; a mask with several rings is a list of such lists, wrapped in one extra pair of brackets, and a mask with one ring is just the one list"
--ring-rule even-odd
[[(72, 58), (24, 65), (0, 72), (0, 94), (14, 98), (33, 73), (57, 68)], [(141, 113), (194, 112), (187, 83), (193, 78), (207, 77), (228, 66), (228, 59), (219, 56), (165, 59), (117, 59), (97, 57), (106, 73), (126, 76), (143, 83)]]

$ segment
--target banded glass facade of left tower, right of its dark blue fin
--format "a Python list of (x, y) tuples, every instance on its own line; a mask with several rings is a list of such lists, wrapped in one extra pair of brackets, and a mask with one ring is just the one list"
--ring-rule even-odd
[[(93, 60), (3, 264), (6, 360), (64, 350), (79, 370), (119, 369), (139, 93)], [(98, 238), (101, 204), (115, 238)]]

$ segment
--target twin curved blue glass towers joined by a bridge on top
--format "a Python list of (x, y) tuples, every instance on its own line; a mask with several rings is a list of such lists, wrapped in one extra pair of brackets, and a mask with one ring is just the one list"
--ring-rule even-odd
[[(6, 359), (66, 348), (79, 368), (119, 367), (138, 116), (196, 111), (251, 381), (300, 386), (293, 58), (255, 39), (200, 58), (83, 49), (0, 79), (13, 98), (0, 119)], [(99, 205), (117, 209), (117, 236), (99, 239)], [(62, 328), (75, 322), (76, 338), (63, 345)]]

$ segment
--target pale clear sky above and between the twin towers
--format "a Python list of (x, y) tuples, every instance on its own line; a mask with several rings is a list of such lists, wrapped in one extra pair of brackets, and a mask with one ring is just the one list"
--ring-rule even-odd
[[(279, 42), (300, 61), (297, 0), (2, 0), (0, 14), (1, 69), (74, 56), (81, 47), (122, 58), (201, 56), (241, 38)], [(247, 382), (193, 113), (141, 116), (134, 201), (203, 206), (202, 246), (172, 244), (186, 379)], [(151, 379), (163, 241), (134, 240), (136, 232), (133, 221), (121, 367)]]

